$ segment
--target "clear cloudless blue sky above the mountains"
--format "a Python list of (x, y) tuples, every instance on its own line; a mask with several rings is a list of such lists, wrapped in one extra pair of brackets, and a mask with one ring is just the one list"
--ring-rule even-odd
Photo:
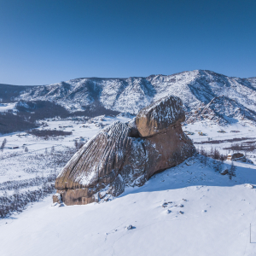
[(0, 83), (256, 76), (255, 0), (0, 0)]

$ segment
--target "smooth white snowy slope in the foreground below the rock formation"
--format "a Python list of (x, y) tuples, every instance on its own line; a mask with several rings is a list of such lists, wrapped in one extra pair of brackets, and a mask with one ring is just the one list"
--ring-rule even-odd
[(51, 207), (48, 198), (0, 220), (0, 254), (255, 255), (256, 190), (245, 184), (256, 183), (256, 170), (236, 164), (231, 181), (195, 158), (107, 203)]

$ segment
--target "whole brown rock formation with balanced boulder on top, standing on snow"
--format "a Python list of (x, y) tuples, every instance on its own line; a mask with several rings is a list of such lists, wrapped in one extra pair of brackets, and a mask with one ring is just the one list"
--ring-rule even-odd
[(182, 102), (168, 96), (143, 108), (135, 119), (115, 122), (92, 137), (55, 181), (66, 205), (118, 196), (125, 185), (142, 186), (156, 172), (183, 162), (195, 147), (181, 127)]

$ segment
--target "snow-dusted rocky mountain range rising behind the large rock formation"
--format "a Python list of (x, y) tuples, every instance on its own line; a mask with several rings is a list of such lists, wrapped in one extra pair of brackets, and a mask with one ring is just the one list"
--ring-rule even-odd
[[(202, 113), (200, 109), (205, 108), (204, 113), (212, 109), (214, 118), (221, 120), (220, 124), (234, 119), (239, 122), (255, 121), (256, 78), (239, 79), (207, 70), (151, 75), (147, 78), (72, 79), (58, 84), (24, 87), (19, 96), (15, 95), (15, 101), (50, 101), (71, 112), (83, 110), (93, 102), (101, 102), (108, 109), (137, 113), (148, 104), (169, 95), (182, 99), (188, 122), (197, 120), (196, 113)], [(204, 114), (201, 119), (212, 117)]]

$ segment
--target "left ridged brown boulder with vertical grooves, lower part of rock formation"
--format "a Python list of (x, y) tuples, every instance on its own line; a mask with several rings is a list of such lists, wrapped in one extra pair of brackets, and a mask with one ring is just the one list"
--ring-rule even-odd
[(131, 148), (128, 135), (127, 125), (114, 123), (73, 155), (55, 181), (55, 189), (67, 205), (97, 201), (96, 192), (114, 182)]

